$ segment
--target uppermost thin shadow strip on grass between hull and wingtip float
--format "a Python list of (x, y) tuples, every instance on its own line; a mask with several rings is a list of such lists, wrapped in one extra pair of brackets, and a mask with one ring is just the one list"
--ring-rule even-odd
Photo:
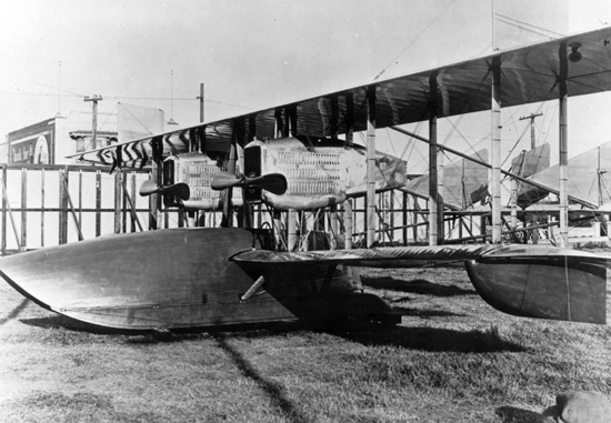
[(477, 295), (474, 288), (463, 289), (454, 285), (442, 285), (429, 282), (424, 279), (402, 280), (395, 278), (361, 276), (363, 285), (378, 290), (392, 290), (413, 294), (428, 294), (434, 296)]

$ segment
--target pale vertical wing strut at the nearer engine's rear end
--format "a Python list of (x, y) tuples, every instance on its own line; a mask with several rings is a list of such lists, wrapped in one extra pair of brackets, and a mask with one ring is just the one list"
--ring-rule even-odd
[(375, 242), (375, 85), (367, 89), (367, 248)]

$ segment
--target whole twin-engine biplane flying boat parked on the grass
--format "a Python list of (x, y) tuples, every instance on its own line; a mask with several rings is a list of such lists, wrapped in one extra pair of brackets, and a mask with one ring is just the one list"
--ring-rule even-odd
[[(407, 171), (401, 160), (375, 152), (377, 128), (429, 120), (434, 158), (438, 118), (492, 109), (500, 131), (494, 119), (501, 102), (557, 98), (565, 112), (569, 95), (611, 90), (610, 40), (605, 28), (79, 154), (113, 168), (151, 164), (153, 179), (142, 194), (187, 211), (222, 209), (221, 228), (112, 234), (46, 248), (2, 258), (0, 274), (67, 316), (158, 330), (288, 319), (393, 321), (385, 302), (363, 293), (354, 266), (464, 261), (478, 293), (502, 312), (605, 323), (604, 256), (503, 245), (494, 238), (480, 245), (375, 248), (372, 222), (375, 191), (404, 184)], [(367, 131), (364, 149), (351, 143), (358, 131)], [(564, 151), (565, 141), (564, 131)], [(493, 195), (500, 177), (495, 145)], [(291, 251), (277, 242), (273, 228), (249, 219), (252, 204), (273, 212), (349, 207), (345, 199), (363, 193), (365, 248)], [(562, 181), (560, 195), (567, 198)], [(431, 212), (435, 201), (431, 194)], [(500, 213), (495, 200), (492, 207)]]

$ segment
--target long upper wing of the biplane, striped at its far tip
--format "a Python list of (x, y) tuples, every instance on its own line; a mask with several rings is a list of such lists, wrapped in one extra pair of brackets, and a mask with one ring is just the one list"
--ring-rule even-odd
[[(368, 82), (314, 98), (207, 122), (156, 137), (92, 150), (86, 160), (116, 165), (146, 164), (151, 154), (167, 155), (189, 149), (227, 151), (233, 137), (274, 138), (276, 133), (330, 137), (367, 128), (367, 91), (375, 92), (377, 128), (422, 121), (428, 115), (429, 81), (437, 79), (438, 117), (490, 109), (492, 59), (501, 63), (502, 105), (555, 99), (560, 51), (573, 48), (581, 60), (567, 70), (569, 95), (611, 90), (611, 28), (531, 44), (402, 77)], [(563, 53), (564, 54), (564, 53)]]

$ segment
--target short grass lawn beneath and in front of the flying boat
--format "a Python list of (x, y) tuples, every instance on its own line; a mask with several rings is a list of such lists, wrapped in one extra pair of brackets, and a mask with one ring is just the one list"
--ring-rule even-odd
[(501, 314), (460, 268), (361, 274), (400, 325), (96, 333), (1, 283), (0, 421), (534, 423), (611, 395), (609, 325)]

